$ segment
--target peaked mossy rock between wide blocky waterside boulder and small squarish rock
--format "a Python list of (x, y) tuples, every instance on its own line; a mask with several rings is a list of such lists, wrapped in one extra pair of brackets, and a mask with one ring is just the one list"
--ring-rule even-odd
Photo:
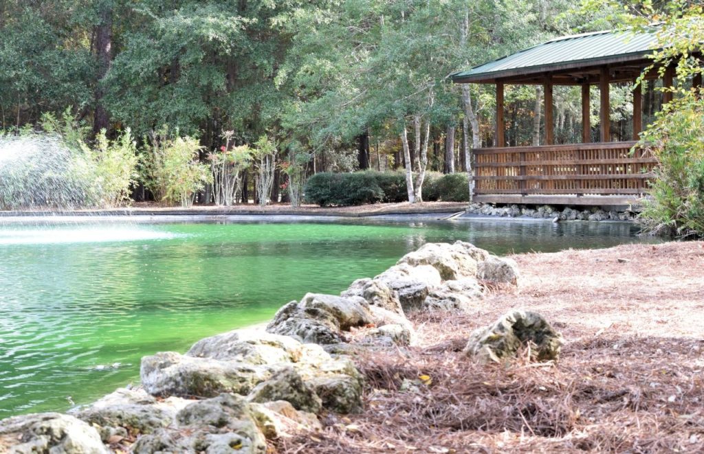
[(279, 370), (269, 380), (258, 384), (248, 398), (258, 403), (287, 401), (296, 410), (308, 413), (318, 413), (322, 408), (318, 394), (303, 382), (301, 375), (292, 367)]

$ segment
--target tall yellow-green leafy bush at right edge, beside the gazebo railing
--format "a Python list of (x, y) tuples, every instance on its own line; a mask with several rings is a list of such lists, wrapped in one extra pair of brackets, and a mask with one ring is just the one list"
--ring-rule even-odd
[(658, 159), (640, 220), (646, 231), (704, 237), (704, 100), (666, 105), (641, 138)]

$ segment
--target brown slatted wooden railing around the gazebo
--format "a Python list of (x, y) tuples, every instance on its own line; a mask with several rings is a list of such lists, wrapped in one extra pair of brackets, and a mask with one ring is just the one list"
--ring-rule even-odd
[(474, 193), (641, 195), (657, 161), (636, 142), (474, 150)]

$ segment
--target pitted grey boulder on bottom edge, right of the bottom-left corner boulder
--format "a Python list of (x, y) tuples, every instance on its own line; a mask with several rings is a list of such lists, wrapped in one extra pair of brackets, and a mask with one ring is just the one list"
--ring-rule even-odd
[(220, 394), (196, 401), (176, 416), (177, 424), (140, 437), (136, 454), (247, 453), (265, 454), (266, 440), (249, 403), (241, 396)]

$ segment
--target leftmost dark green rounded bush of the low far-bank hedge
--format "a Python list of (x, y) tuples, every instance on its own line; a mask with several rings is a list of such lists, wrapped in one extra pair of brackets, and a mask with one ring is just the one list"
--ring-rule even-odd
[(311, 176), (303, 190), (307, 202), (321, 207), (364, 205), (379, 202), (384, 197), (384, 191), (379, 188), (372, 172), (322, 172)]

